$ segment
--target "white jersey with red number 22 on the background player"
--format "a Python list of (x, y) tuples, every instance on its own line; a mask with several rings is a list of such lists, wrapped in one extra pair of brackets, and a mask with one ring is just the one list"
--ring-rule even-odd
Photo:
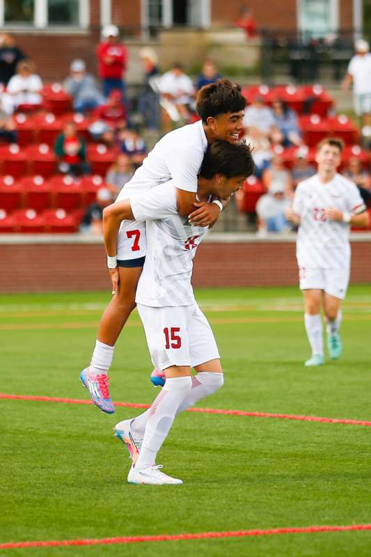
[(320, 182), (315, 174), (300, 182), (292, 208), (300, 216), (297, 262), (308, 269), (344, 269), (350, 265), (349, 224), (326, 219), (334, 207), (358, 214), (365, 210), (356, 185), (336, 174), (331, 182)]

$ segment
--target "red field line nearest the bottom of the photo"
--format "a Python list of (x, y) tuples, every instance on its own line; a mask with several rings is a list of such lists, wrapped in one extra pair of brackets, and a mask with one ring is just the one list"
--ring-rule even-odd
[(24, 547), (56, 547), (66, 545), (103, 545), (134, 544), (140, 542), (177, 542), (180, 540), (209, 540), (210, 538), (246, 538), (257, 535), (275, 534), (315, 534), (321, 532), (349, 532), (371, 530), (371, 524), (352, 524), (352, 526), (308, 526), (306, 528), (270, 528), (268, 530), (239, 530), (235, 532), (200, 532), (198, 534), (141, 535), (98, 540), (51, 540), (48, 542), (15, 542), (0, 544), (0, 549), (19, 549)]

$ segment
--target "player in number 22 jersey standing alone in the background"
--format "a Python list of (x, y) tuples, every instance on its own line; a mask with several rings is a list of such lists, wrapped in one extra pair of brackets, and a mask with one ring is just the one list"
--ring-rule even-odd
[(343, 144), (324, 139), (317, 146), (317, 174), (300, 182), (286, 218), (297, 226), (297, 262), (304, 297), (304, 322), (312, 356), (305, 366), (322, 366), (321, 307), (331, 359), (342, 354), (341, 301), (350, 272), (350, 226), (367, 226), (368, 213), (356, 185), (337, 173)]

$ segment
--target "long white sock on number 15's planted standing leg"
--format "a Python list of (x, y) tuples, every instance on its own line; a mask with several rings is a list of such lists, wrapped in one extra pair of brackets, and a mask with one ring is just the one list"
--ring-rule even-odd
[(143, 445), (136, 468), (148, 468), (156, 462), (156, 455), (173, 425), (177, 409), (191, 390), (191, 377), (172, 377), (152, 403), (145, 426)]

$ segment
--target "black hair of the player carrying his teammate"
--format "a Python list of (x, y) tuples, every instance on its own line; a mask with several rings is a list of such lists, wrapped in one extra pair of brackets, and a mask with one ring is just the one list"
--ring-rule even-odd
[(246, 143), (233, 145), (229, 141), (216, 139), (207, 147), (200, 175), (207, 180), (210, 180), (215, 174), (221, 174), (226, 178), (235, 178), (235, 176), (246, 176), (247, 178), (253, 173), (254, 167), (249, 145)]

